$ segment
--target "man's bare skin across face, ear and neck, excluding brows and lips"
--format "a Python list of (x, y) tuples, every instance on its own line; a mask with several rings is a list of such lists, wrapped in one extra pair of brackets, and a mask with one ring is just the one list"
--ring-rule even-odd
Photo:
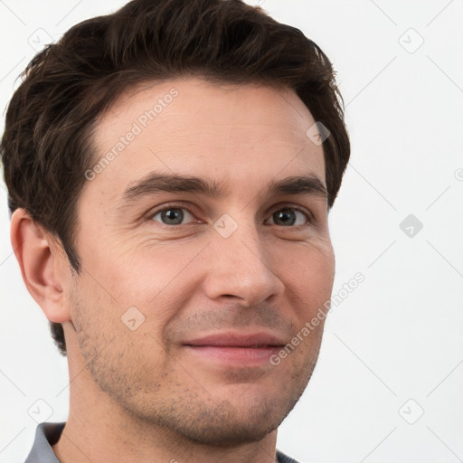
[[(306, 136), (314, 118), (292, 90), (197, 78), (139, 86), (99, 119), (96, 161), (173, 87), (173, 102), (80, 193), (81, 275), (24, 210), (12, 219), (24, 282), (64, 326), (70, 413), (53, 446), (64, 463), (273, 462), (279, 424), (317, 362), (323, 321), (278, 366), (225, 367), (183, 345), (262, 329), (289, 343), (330, 298), (335, 257), (326, 198), (266, 194), (271, 180), (291, 175), (325, 184), (323, 146)], [(230, 191), (122, 203), (148, 172), (201, 176)], [(170, 203), (191, 211), (175, 228), (157, 213)], [(274, 213), (288, 207), (311, 218), (291, 210), (295, 224), (281, 224)], [(238, 225), (228, 238), (213, 228), (223, 213)], [(128, 307), (145, 317), (134, 331), (121, 323)]]

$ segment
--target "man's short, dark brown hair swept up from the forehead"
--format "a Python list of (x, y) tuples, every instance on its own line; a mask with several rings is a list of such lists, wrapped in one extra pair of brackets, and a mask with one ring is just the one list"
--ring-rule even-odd
[[(190, 75), (295, 90), (331, 134), (323, 147), (332, 207), (350, 144), (335, 72), (317, 44), (241, 0), (134, 0), (35, 55), (6, 112), (0, 155), (10, 211), (24, 208), (58, 238), (72, 271), (81, 271), (76, 203), (96, 156), (96, 118), (129, 86)], [(66, 355), (61, 324), (51, 328)]]

